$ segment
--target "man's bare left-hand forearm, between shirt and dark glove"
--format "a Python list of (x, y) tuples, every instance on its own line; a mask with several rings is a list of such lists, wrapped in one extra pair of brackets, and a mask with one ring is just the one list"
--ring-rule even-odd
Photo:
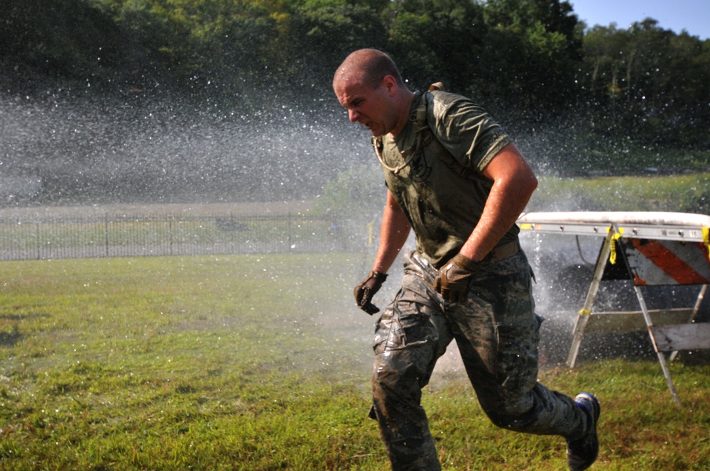
[(392, 193), (387, 190), (387, 201), (382, 213), (380, 243), (372, 267), (373, 271), (387, 273), (407, 241), (411, 228), (404, 211)]

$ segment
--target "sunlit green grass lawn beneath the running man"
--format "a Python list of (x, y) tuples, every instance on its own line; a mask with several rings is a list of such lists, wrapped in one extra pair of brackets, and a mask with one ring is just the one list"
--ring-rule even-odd
[[(0, 263), (0, 469), (387, 470), (359, 255)], [(391, 289), (391, 288), (390, 288)], [(383, 295), (384, 296), (384, 295)], [(379, 302), (382, 302), (380, 300)], [(594, 469), (710, 467), (710, 366), (542, 372), (602, 403)], [(423, 399), (447, 470), (561, 470), (564, 440), (488, 422), (461, 372)]]

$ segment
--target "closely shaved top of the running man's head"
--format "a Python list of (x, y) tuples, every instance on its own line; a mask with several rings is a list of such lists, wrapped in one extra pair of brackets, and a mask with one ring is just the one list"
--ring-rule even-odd
[(398, 85), (403, 85), (402, 76), (390, 56), (376, 49), (360, 49), (352, 52), (338, 67), (333, 84), (342, 80), (376, 89), (386, 75), (391, 75)]

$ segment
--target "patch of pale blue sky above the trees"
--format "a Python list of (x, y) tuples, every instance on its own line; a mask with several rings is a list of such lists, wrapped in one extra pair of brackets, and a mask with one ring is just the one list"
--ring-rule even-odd
[(574, 14), (587, 26), (616, 23), (627, 29), (631, 23), (653, 18), (665, 30), (687, 31), (700, 39), (710, 38), (710, 0), (567, 0)]

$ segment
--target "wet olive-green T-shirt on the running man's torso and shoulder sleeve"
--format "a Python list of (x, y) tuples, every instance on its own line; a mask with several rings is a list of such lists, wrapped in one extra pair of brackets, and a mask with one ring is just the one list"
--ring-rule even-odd
[[(417, 148), (417, 108), (427, 101), (426, 121), (449, 155), (437, 156), (435, 145)], [(426, 142), (426, 140), (425, 140)], [(491, 179), (484, 177), (488, 162), (512, 142), (496, 121), (464, 96), (447, 92), (415, 95), (410, 121), (395, 137), (384, 135), (381, 158), (388, 189), (413, 226), (417, 251), (436, 267), (459, 253), (483, 213), (491, 192)], [(408, 165), (407, 151), (414, 151)], [(403, 155), (405, 153), (405, 155)], [(464, 170), (466, 175), (462, 175)], [(498, 245), (515, 240), (513, 226)]]

